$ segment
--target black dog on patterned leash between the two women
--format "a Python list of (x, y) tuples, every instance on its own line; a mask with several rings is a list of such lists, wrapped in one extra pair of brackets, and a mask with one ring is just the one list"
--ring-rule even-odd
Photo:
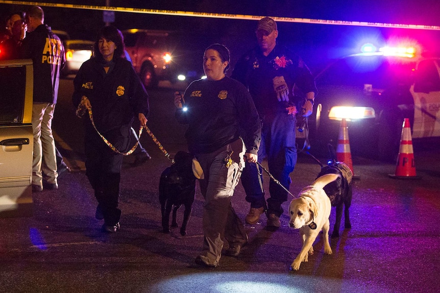
[(179, 227), (176, 221), (177, 210), (185, 206), (180, 234), (186, 235), (186, 225), (191, 216), (192, 203), (195, 196), (195, 176), (192, 173), (191, 154), (179, 151), (174, 157), (175, 163), (166, 168), (160, 175), (159, 201), (162, 211), (162, 229), (169, 233), (169, 214), (173, 209), (171, 227)]

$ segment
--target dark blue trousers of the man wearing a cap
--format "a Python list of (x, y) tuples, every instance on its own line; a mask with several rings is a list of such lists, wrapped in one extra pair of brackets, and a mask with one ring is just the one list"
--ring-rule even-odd
[[(268, 171), (288, 190), (298, 154), (295, 146), (295, 116), (279, 113), (275, 117), (266, 117), (261, 129), (261, 144), (258, 150), (258, 162), (267, 157)], [(260, 177), (260, 180), (258, 179)], [(262, 170), (257, 164), (246, 162), (241, 174), (241, 183), (246, 192), (246, 201), (251, 207), (264, 206), (262, 189)], [(269, 182), (270, 198), (267, 199), (268, 214), (278, 217), (283, 214), (281, 204), (288, 199), (288, 193), (275, 181)]]

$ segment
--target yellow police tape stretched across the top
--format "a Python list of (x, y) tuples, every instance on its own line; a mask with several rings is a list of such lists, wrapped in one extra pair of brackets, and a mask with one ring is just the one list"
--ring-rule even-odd
[[(146, 8), (95, 6), (95, 5), (82, 5), (82, 4), (59, 4), (59, 3), (44, 3), (44, 2), (3, 1), (3, 0), (0, 0), (0, 3), (14, 4), (14, 5), (37, 5), (37, 6), (47, 6), (47, 7), (59, 7), (59, 8), (76, 8), (76, 9), (91, 9), (91, 10), (104, 10), (104, 11), (117, 11), (117, 12), (145, 13), (145, 14), (193, 16), (193, 17), (208, 17), (208, 18), (230, 18), (230, 19), (247, 19), (247, 20), (259, 20), (260, 18), (267, 16), (267, 15), (256, 16), (256, 15), (243, 15), (243, 14), (158, 10), (158, 9), (146, 9)], [(438, 26), (438, 25), (400, 24), (400, 23), (382, 23), (382, 22), (347, 21), (347, 20), (327, 20), (327, 19), (278, 17), (278, 16), (271, 16), (271, 17), (273, 19), (275, 19), (276, 21), (282, 21), (282, 22), (301, 22), (301, 23), (355, 25), (355, 26), (375, 26), (378, 28), (440, 31), (440, 26)]]

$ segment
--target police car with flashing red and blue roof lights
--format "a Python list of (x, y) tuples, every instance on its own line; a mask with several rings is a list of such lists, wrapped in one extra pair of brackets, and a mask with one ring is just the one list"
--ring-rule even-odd
[(309, 117), (316, 153), (337, 145), (340, 122), (348, 122), (352, 154), (394, 161), (404, 118), (412, 139), (440, 137), (440, 59), (415, 47), (362, 47), (316, 75), (318, 94)]

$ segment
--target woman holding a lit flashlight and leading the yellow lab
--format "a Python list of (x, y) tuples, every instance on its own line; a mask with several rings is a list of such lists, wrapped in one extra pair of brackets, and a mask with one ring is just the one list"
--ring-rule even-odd
[(260, 145), (261, 124), (252, 97), (242, 84), (225, 75), (228, 67), (228, 48), (209, 46), (203, 57), (207, 78), (192, 82), (183, 98), (176, 92), (174, 100), (177, 120), (188, 124), (188, 150), (203, 170), (199, 178), (205, 198), (204, 242), (195, 262), (204, 267), (218, 266), (224, 239), (229, 244), (225, 254), (230, 256), (237, 256), (248, 241), (231, 198), (245, 166), (243, 155), (255, 163)]

